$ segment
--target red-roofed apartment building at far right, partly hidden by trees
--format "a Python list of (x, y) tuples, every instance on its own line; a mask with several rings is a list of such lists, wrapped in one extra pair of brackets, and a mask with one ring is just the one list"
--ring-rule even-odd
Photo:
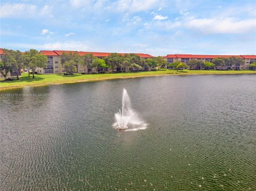
[[(247, 70), (248, 65), (256, 61), (256, 55), (195, 55), (195, 54), (167, 54), (163, 56), (163, 58), (167, 61), (168, 64), (173, 63), (175, 61), (180, 61), (183, 63), (188, 64), (190, 60), (202, 60), (203, 62), (212, 62), (213, 59), (218, 57), (241, 57), (244, 59), (244, 64), (240, 65), (239, 68), (235, 65), (231, 65), (231, 67), (217, 67), (215, 69), (222, 69), (222, 70)], [(197, 67), (197, 68), (189, 68), (189, 69), (204, 69), (204, 67)]]

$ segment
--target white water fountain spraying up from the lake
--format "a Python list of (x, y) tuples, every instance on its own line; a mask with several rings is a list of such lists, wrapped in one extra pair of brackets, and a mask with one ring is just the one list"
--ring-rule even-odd
[[(115, 123), (113, 126), (119, 130), (125, 130), (128, 128), (128, 125), (131, 125), (132, 129), (130, 130), (139, 130), (146, 129), (147, 124), (140, 120), (138, 114), (132, 109), (130, 97), (127, 94), (126, 89), (123, 89), (122, 97), (122, 110), (115, 113)], [(126, 131), (128, 131), (127, 129)]]

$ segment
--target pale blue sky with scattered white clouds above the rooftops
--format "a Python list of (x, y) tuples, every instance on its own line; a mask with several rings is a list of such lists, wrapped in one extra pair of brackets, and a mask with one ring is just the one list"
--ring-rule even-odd
[(0, 47), (256, 54), (256, 1), (4, 1)]

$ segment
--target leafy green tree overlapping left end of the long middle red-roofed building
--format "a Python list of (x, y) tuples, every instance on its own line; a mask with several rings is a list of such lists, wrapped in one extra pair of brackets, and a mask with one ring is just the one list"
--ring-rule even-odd
[(24, 55), (24, 59), (25, 59), (25, 63), (27, 65), (27, 67), (30, 70), (32, 70), (33, 78), (35, 78), (36, 68), (46, 67), (47, 56), (39, 53), (35, 49), (30, 49), (29, 51), (27, 51)]

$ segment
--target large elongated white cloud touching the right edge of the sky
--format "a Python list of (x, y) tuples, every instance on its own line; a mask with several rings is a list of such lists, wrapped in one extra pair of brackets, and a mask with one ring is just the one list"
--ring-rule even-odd
[(205, 34), (243, 34), (256, 29), (255, 19), (234, 18), (188, 19), (186, 26)]

